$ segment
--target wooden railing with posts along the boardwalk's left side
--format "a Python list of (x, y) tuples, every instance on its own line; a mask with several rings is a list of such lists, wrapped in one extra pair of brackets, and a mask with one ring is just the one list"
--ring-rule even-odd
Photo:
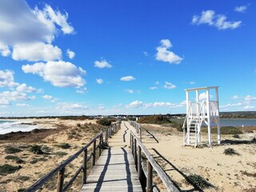
[[(106, 128), (106, 134), (105, 134), (105, 142), (108, 142), (108, 138), (111, 137), (112, 134), (116, 133), (120, 129), (120, 122), (116, 122), (112, 124), (111, 126)], [(98, 145), (97, 145), (98, 140)], [(34, 185), (30, 186), (26, 192), (33, 192), (38, 190), (41, 186), (46, 184), (50, 180), (50, 178), (53, 178), (54, 175), (58, 174), (58, 181), (57, 181), (57, 192), (66, 191), (74, 182), (74, 180), (78, 177), (78, 174), (82, 171), (82, 185), (86, 183), (86, 172), (89, 168), (87, 166), (87, 163), (90, 161), (90, 158), (92, 158), (91, 166), (95, 165), (96, 162), (96, 149), (98, 148), (98, 156), (102, 154), (102, 144), (103, 144), (103, 133), (99, 133), (96, 137), (94, 137), (90, 142), (86, 144), (86, 146), (83, 146), (81, 150), (78, 150), (76, 154), (73, 154), (70, 158), (68, 158), (65, 162), (62, 162), (59, 166), (57, 166), (54, 170), (50, 171), (49, 174), (46, 174), (44, 177), (40, 178), (37, 182), (34, 183)], [(88, 154), (88, 148), (93, 145), (93, 149), (90, 154)], [(64, 186), (64, 178), (65, 178), (65, 168), (70, 164), (70, 162), (73, 162), (75, 158), (78, 158), (80, 154), (83, 153), (83, 159), (82, 159), (82, 165), (79, 166), (78, 170), (75, 171), (74, 176), (70, 178), (70, 181), (66, 182), (66, 185)]]

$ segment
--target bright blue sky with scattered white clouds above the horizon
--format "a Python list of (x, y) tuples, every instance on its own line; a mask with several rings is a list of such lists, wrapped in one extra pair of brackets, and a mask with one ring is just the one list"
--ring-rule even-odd
[(219, 86), (221, 111), (256, 110), (255, 10), (1, 1), (0, 116), (185, 113), (185, 89), (202, 86)]

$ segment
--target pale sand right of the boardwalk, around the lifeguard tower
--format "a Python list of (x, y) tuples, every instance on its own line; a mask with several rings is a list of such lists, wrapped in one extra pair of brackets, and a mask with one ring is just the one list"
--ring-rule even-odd
[[(256, 137), (255, 127), (250, 127), (253, 133), (240, 134), (241, 138), (222, 135), (222, 145), (198, 148), (182, 146), (182, 133), (174, 128), (152, 124), (142, 127), (148, 131), (142, 129), (142, 142), (181, 190), (193, 190), (186, 176), (199, 174), (213, 186), (204, 191), (256, 191), (256, 142), (250, 142)], [(216, 142), (217, 135), (212, 136)], [(224, 154), (227, 148), (238, 154)]]

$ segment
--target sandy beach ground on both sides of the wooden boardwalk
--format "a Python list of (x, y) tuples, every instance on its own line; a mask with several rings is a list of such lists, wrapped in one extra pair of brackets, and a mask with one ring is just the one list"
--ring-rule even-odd
[[(0, 164), (20, 166), (14, 173), (0, 175), (1, 192), (26, 189), (104, 130), (96, 124), (96, 120), (45, 118), (25, 119), (22, 122), (40, 129), (0, 135)], [(202, 134), (204, 137), (206, 134)], [(199, 174), (210, 182), (212, 186), (203, 191), (256, 191), (256, 144), (250, 142), (255, 137), (255, 127), (247, 127), (240, 138), (222, 135), (222, 145), (215, 145), (217, 136), (213, 134), (212, 147), (184, 147), (182, 132), (175, 128), (142, 124), (142, 142), (178, 187), (186, 191), (194, 191), (194, 186), (186, 182), (190, 174)], [(60, 147), (63, 143), (70, 147)], [(42, 146), (44, 154), (31, 153), (30, 148), (34, 145)], [(18, 152), (11, 153), (11, 147), (18, 149)], [(237, 154), (224, 154), (227, 148), (233, 148)], [(82, 158), (67, 167), (67, 178), (81, 165), (81, 161)], [(70, 191), (78, 191), (80, 182), (77, 179)], [(156, 182), (159, 183), (159, 180)], [(56, 178), (48, 182), (42, 191), (52, 191), (55, 186)], [(161, 183), (159, 187), (162, 187)], [(164, 187), (162, 189), (165, 191)]]

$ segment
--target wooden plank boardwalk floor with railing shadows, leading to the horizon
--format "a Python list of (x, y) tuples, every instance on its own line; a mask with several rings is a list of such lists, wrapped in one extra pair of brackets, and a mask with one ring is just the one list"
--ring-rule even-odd
[(104, 150), (102, 156), (91, 170), (82, 192), (87, 191), (122, 191), (142, 192), (138, 180), (134, 158), (126, 138), (126, 126), (122, 122), (121, 129), (109, 140), (110, 149)]

